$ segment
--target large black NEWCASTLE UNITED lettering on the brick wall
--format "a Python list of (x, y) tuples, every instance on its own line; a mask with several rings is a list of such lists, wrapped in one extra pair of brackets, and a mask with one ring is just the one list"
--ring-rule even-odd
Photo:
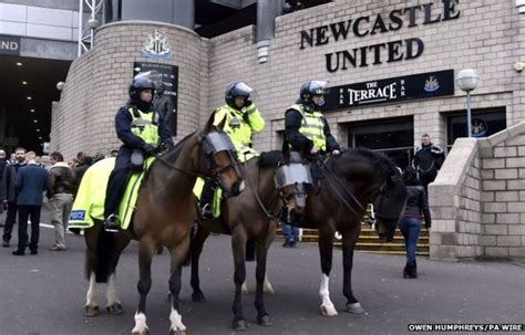
[[(393, 9), (375, 15), (349, 18), (348, 20), (319, 25), (300, 32), (300, 50), (328, 45), (331, 42), (348, 41), (356, 44), (366, 36), (379, 36), (403, 28), (414, 29), (456, 20), (461, 15), (460, 0), (441, 0)], [(393, 34), (391, 34), (393, 36)], [(384, 43), (350, 48), (325, 54), (328, 72), (346, 71), (381, 63), (413, 60), (424, 52), (424, 42), (418, 36), (404, 40), (390, 39)]]

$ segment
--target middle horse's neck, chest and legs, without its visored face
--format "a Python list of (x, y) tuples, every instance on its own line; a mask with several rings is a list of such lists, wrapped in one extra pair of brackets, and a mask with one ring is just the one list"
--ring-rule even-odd
[[(247, 328), (243, 314), (241, 286), (246, 279), (245, 255), (250, 252), (253, 243), (256, 248), (256, 294), (257, 323), (269, 326), (271, 320), (266, 312), (262, 299), (264, 287), (272, 291), (266, 280), (266, 258), (268, 248), (275, 238), (278, 211), (282, 208), (279, 191), (274, 181), (275, 169), (280, 151), (264, 153), (250, 159), (244, 166), (246, 190), (241, 197), (228, 198), (222, 203), (220, 217), (216, 220), (199, 220), (197, 232), (191, 243), (193, 300), (204, 301), (198, 278), (198, 260), (204, 242), (210, 232), (231, 234), (231, 250), (235, 263), (235, 297), (233, 304), (235, 331)], [(248, 247), (247, 247), (247, 242)], [(247, 250), (248, 248), (248, 250)], [(265, 286), (266, 285), (266, 286)]]

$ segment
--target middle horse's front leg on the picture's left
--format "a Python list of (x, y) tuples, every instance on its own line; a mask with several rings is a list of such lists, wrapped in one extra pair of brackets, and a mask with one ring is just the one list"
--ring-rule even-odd
[(246, 331), (247, 324), (243, 315), (243, 301), (241, 301), (241, 285), (246, 280), (246, 264), (245, 264), (245, 252), (246, 252), (246, 234), (239, 229), (231, 232), (231, 250), (234, 253), (234, 282), (235, 282), (235, 296), (234, 296), (234, 322), (233, 327), (235, 331)]

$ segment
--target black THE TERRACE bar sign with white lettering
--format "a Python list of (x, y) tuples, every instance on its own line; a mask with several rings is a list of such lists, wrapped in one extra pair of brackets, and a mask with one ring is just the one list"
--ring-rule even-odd
[(323, 111), (454, 94), (454, 71), (428, 72), (330, 87)]

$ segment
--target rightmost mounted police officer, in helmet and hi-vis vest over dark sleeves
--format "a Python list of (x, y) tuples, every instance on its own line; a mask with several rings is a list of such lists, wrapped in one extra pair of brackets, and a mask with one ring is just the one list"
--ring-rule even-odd
[(286, 111), (285, 138), (294, 151), (310, 157), (326, 153), (338, 156), (341, 153), (327, 119), (319, 111), (325, 104), (326, 85), (327, 82), (322, 81), (305, 83), (299, 100)]

